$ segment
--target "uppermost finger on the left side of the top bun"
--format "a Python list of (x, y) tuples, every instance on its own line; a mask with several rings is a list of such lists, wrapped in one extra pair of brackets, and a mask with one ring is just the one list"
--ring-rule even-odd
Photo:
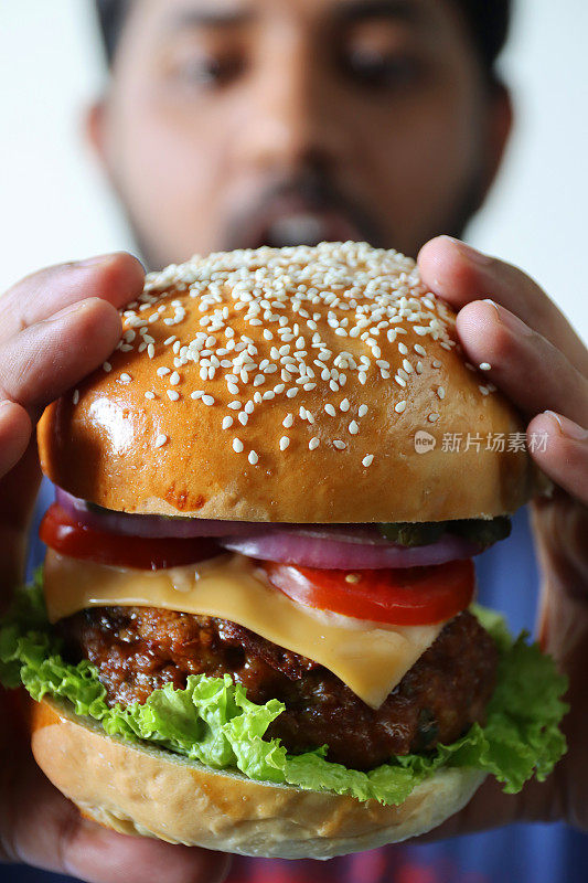
[(140, 295), (143, 280), (141, 264), (122, 252), (28, 276), (0, 297), (0, 342), (92, 297), (122, 307)]

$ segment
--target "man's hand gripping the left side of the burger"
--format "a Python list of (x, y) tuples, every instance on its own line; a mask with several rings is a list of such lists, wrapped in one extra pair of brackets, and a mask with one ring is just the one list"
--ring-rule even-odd
[[(22, 579), (39, 488), (34, 425), (43, 407), (104, 362), (121, 333), (117, 308), (143, 270), (118, 254), (38, 273), (0, 297), (0, 611)], [(0, 688), (0, 861), (92, 883), (223, 880), (227, 857), (131, 838), (84, 820), (43, 776), (18, 694)]]

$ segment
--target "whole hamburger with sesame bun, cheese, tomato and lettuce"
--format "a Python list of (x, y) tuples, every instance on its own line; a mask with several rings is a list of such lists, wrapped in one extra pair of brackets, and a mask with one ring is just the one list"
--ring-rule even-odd
[(296, 859), (544, 779), (565, 683), (472, 560), (547, 481), (415, 263), (217, 253), (122, 321), (40, 423), (47, 555), (0, 631), (51, 781), (118, 831)]

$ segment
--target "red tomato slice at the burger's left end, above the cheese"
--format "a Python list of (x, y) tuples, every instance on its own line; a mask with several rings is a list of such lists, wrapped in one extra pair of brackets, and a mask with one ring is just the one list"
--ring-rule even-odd
[(141, 571), (195, 564), (223, 552), (210, 538), (143, 539), (97, 530), (76, 521), (57, 503), (47, 509), (39, 535), (62, 555)]

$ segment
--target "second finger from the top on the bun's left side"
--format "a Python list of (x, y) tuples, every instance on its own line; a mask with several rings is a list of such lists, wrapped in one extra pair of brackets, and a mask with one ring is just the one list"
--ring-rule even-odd
[(24, 329), (0, 345), (0, 396), (39, 408), (82, 380), (115, 349), (118, 311), (90, 298)]

